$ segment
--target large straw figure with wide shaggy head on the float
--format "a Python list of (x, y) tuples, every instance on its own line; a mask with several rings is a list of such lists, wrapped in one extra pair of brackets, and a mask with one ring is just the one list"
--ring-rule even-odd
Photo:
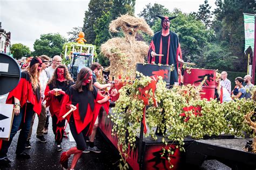
[(109, 25), (111, 32), (124, 32), (124, 38), (109, 39), (101, 46), (101, 51), (110, 60), (110, 76), (119, 75), (135, 77), (136, 63), (143, 63), (147, 56), (149, 45), (144, 41), (137, 41), (137, 31), (153, 36), (153, 31), (143, 18), (122, 15)]

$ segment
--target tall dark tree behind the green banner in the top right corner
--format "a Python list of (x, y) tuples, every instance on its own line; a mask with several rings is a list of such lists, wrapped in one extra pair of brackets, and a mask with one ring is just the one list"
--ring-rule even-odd
[[(254, 0), (217, 0), (217, 9), (214, 10), (213, 30), (217, 41), (226, 41), (227, 51), (234, 56), (239, 56), (236, 69), (246, 72), (244, 60), (244, 18), (242, 13), (254, 13)], [(241, 62), (242, 61), (242, 62)]]

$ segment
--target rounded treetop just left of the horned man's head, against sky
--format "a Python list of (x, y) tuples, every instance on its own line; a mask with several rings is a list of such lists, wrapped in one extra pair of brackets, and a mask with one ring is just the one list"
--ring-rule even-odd
[(154, 3), (152, 6), (151, 3), (149, 3), (146, 5), (143, 11), (139, 13), (139, 17), (143, 17), (150, 27), (157, 22), (158, 17), (156, 15), (170, 15), (170, 11), (165, 8), (164, 5)]

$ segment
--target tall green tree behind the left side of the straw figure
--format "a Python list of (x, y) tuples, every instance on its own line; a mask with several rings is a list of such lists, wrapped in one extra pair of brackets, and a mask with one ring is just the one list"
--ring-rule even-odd
[(103, 66), (108, 66), (109, 60), (100, 54), (100, 46), (112, 37), (109, 32), (110, 22), (126, 13), (133, 15), (134, 5), (135, 0), (90, 1), (89, 9), (85, 11), (82, 31), (87, 42), (97, 46), (99, 63)]

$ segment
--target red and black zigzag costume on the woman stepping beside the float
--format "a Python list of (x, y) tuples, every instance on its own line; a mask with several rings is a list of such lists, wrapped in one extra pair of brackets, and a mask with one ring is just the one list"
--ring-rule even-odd
[(93, 90), (88, 89), (89, 85), (83, 86), (83, 91), (78, 92), (72, 86), (66, 91), (63, 99), (62, 109), (60, 110), (60, 116), (66, 114), (69, 111), (66, 106), (73, 104), (77, 107), (75, 111), (66, 116), (69, 122), (72, 136), (74, 137), (77, 149), (84, 151), (86, 148), (86, 136), (90, 136), (93, 125), (97, 119), (100, 108), (103, 106), (105, 111), (109, 112), (109, 102), (103, 104), (97, 103), (102, 100), (103, 96), (96, 87), (93, 86)]

